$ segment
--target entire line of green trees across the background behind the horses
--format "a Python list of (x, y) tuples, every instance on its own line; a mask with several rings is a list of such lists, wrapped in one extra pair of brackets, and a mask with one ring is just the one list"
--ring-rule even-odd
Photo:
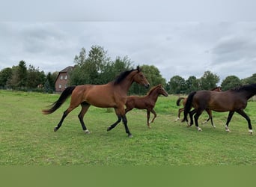
[[(79, 55), (74, 58), (74, 68), (70, 72), (68, 85), (106, 84), (115, 79), (124, 70), (131, 70), (133, 63), (128, 56), (117, 57), (115, 60), (109, 55), (102, 46), (91, 46), (89, 52), (82, 48)], [(151, 86), (162, 84), (168, 93), (187, 94), (191, 91), (210, 90), (215, 88), (220, 79), (215, 73), (205, 71), (201, 78), (189, 76), (183, 79), (181, 76), (173, 76), (167, 82), (162, 78), (157, 67), (143, 64), (140, 66)], [(41, 91), (52, 93), (55, 91), (55, 79), (58, 72), (45, 74), (43, 70), (26, 65), (25, 61), (19, 61), (17, 66), (6, 67), (0, 71), (0, 88), (14, 89), (22, 91)], [(244, 84), (256, 82), (256, 73), (246, 79), (239, 79), (237, 76), (227, 76), (221, 83), (222, 91), (235, 88)], [(137, 84), (132, 84), (129, 94), (144, 95), (147, 89)]]

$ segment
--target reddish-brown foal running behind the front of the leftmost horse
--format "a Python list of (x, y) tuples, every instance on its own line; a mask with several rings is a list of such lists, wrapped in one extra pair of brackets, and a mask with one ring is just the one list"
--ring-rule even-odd
[[(154, 111), (153, 108), (156, 105), (156, 100), (159, 95), (168, 96), (168, 93), (162, 85), (151, 88), (146, 96), (127, 96), (127, 102), (125, 103), (127, 108), (125, 109), (125, 113), (127, 114), (127, 112), (131, 111), (133, 108), (147, 109), (147, 126), (151, 128), (150, 123), (153, 123), (153, 120), (156, 118), (156, 111)], [(150, 112), (154, 115), (151, 121), (149, 121)]]

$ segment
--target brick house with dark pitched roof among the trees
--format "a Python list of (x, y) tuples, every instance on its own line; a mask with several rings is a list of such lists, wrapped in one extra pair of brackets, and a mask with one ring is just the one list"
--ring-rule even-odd
[(69, 73), (73, 70), (74, 67), (69, 66), (64, 68), (58, 73), (57, 78), (55, 79), (55, 91), (62, 92), (65, 88), (67, 88), (67, 83), (70, 79)]

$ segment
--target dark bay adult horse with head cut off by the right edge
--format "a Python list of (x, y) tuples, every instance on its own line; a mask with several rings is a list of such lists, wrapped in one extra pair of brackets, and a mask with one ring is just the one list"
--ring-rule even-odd
[[(246, 108), (247, 101), (256, 94), (256, 84), (243, 85), (241, 87), (233, 88), (228, 91), (216, 92), (216, 91), (195, 91), (189, 94), (186, 101), (184, 110), (184, 120), (187, 120), (187, 114), (190, 116), (190, 126), (193, 124), (193, 115), (195, 114), (195, 126), (198, 131), (201, 128), (198, 126), (198, 117), (205, 109), (213, 111), (229, 111), (228, 120), (225, 125), (226, 132), (230, 132), (228, 124), (233, 117), (234, 112), (237, 112), (244, 118), (246, 118), (249, 133), (252, 134), (252, 124), (250, 117), (246, 114), (244, 109)], [(190, 111), (192, 106), (195, 108)]]

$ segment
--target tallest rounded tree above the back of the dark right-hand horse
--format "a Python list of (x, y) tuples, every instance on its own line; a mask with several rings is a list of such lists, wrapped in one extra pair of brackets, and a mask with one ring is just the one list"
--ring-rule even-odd
[(219, 82), (219, 76), (211, 73), (210, 71), (206, 71), (199, 80), (201, 90), (211, 90), (217, 86), (217, 83)]

